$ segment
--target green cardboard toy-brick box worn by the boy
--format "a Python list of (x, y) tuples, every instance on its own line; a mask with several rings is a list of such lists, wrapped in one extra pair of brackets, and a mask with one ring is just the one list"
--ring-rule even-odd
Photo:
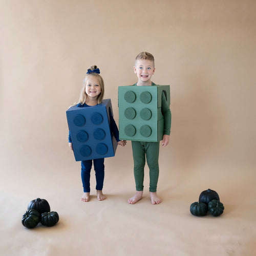
[(121, 140), (157, 142), (163, 139), (162, 93), (169, 105), (169, 86), (118, 87)]

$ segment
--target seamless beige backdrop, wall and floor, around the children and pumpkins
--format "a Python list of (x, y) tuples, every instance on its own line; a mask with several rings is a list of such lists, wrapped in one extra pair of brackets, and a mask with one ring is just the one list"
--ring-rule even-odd
[[(1, 255), (252, 255), (255, 251), (255, 1), (0, 1)], [(170, 84), (170, 144), (160, 148), (158, 193), (135, 191), (131, 142), (105, 159), (104, 193), (80, 201), (79, 162), (66, 110), (97, 65), (118, 123), (117, 90), (134, 59), (155, 56)], [(189, 206), (216, 190), (219, 218)], [(21, 224), (45, 198), (52, 228)]]

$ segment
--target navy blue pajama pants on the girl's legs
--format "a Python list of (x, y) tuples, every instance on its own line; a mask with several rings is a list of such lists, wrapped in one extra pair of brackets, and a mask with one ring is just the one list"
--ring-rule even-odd
[(81, 178), (83, 192), (90, 192), (90, 176), (92, 164), (96, 177), (96, 189), (102, 190), (104, 181), (104, 158), (81, 161)]

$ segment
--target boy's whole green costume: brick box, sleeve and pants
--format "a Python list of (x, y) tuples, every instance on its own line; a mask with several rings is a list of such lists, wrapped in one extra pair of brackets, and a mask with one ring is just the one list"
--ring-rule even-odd
[(172, 114), (170, 88), (158, 86), (118, 87), (119, 138), (131, 140), (136, 190), (143, 190), (145, 157), (150, 168), (150, 191), (156, 192), (159, 176), (159, 141), (170, 135)]

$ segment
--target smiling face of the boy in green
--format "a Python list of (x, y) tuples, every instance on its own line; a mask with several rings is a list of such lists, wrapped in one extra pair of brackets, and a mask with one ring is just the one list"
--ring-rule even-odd
[(138, 81), (143, 83), (150, 82), (152, 75), (155, 73), (153, 61), (138, 59), (135, 63), (134, 73), (137, 75)]

